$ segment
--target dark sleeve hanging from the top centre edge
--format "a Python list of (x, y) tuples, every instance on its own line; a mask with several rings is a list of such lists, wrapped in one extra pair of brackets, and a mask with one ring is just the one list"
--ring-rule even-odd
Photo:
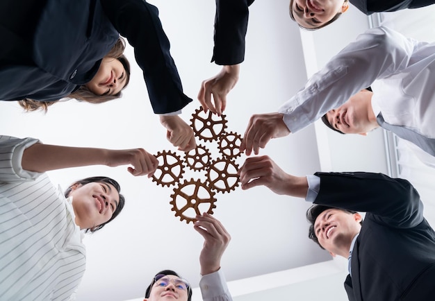
[(236, 65), (245, 60), (248, 6), (254, 0), (216, 0), (215, 46), (211, 61)]

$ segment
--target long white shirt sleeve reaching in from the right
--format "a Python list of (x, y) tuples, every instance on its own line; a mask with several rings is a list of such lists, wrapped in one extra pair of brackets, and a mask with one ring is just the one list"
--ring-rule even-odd
[(309, 126), (375, 80), (400, 73), (409, 65), (414, 43), (386, 27), (359, 35), (279, 107), (290, 132)]

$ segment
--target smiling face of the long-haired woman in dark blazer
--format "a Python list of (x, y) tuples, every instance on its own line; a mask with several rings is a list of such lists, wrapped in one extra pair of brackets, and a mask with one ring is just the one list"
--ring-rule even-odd
[(96, 95), (116, 95), (126, 85), (127, 74), (116, 58), (103, 58), (94, 78), (85, 86)]

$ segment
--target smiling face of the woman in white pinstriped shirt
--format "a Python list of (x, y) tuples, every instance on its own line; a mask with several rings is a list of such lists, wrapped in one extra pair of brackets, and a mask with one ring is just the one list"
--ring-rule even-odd
[(72, 196), (76, 224), (81, 229), (106, 223), (120, 203), (119, 193), (106, 182), (74, 184), (69, 196)]

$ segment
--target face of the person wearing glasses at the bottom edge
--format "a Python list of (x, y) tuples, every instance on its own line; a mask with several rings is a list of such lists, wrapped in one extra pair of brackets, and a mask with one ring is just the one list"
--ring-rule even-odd
[[(165, 281), (169, 278), (170, 281)], [(188, 300), (188, 290), (186, 286), (177, 281), (179, 277), (175, 275), (165, 275), (161, 281), (156, 281), (151, 288), (148, 301), (167, 301), (167, 300)]]

